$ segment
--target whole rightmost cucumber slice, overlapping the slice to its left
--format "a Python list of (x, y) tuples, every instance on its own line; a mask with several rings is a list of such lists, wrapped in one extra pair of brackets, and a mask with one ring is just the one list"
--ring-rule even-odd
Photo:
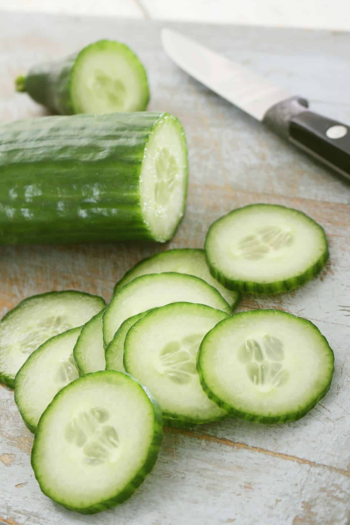
[(207, 333), (197, 371), (208, 397), (231, 415), (284, 423), (303, 417), (328, 392), (334, 354), (311, 321), (254, 310)]

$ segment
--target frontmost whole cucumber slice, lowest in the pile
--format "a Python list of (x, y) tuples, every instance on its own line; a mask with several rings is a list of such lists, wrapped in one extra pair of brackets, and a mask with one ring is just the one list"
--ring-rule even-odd
[(31, 451), (40, 489), (84, 514), (125, 501), (155, 464), (162, 424), (157, 402), (129, 375), (79, 377), (40, 418)]

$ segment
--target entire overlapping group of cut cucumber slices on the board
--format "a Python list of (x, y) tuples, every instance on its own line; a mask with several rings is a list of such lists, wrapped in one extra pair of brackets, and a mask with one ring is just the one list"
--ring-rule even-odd
[(232, 310), (240, 290), (293, 288), (327, 256), (310, 217), (252, 205), (217, 220), (205, 251), (173, 249), (136, 264), (108, 307), (65, 291), (8, 312), (0, 380), (15, 385), (35, 433), (31, 464), (41, 490), (68, 509), (98, 512), (145, 479), (163, 425), (304, 416), (331, 385), (326, 339), (289, 313)]

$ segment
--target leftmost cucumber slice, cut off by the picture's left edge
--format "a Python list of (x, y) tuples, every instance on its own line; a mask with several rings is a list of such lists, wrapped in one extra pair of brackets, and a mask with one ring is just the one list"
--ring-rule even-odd
[(38, 346), (80, 327), (103, 307), (102, 297), (75, 290), (41, 293), (21, 301), (0, 321), (0, 382), (14, 388), (15, 375)]

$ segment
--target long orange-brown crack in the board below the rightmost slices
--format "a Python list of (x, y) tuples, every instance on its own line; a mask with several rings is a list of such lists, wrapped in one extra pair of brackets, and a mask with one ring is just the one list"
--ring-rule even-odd
[(211, 436), (210, 434), (198, 434), (192, 430), (186, 430), (184, 428), (164, 428), (165, 432), (182, 434), (183, 436), (194, 437), (196, 439), (201, 439), (206, 442), (219, 443), (220, 445), (226, 445), (228, 447), (236, 448), (238, 450), (249, 450), (250, 452), (256, 452), (264, 456), (272, 456), (278, 459), (284, 459), (286, 461), (293, 461), (294, 463), (300, 463), (302, 465), (309, 465), (311, 467), (324, 468), (330, 470), (331, 472), (337, 472), (342, 476), (350, 478), (350, 470), (343, 468), (333, 467), (331, 465), (325, 465), (324, 463), (316, 463), (315, 461), (310, 461), (309, 459), (300, 458), (298, 456), (292, 456), (289, 454), (283, 454), (281, 452), (274, 452), (273, 450), (268, 450), (266, 448), (256, 447), (253, 445), (247, 445), (246, 443), (241, 443), (238, 441), (231, 441), (230, 439), (224, 437)]

